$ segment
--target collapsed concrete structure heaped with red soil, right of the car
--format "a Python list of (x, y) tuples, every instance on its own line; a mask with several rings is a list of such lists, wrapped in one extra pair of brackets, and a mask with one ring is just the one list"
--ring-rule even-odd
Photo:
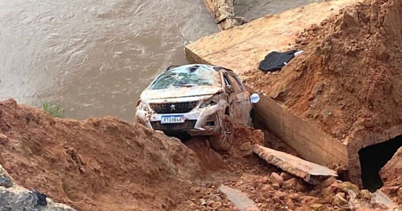
[[(263, 127), (305, 159), (347, 170), (362, 187), (359, 150), (402, 131), (401, 5), (309, 5), (201, 38), (186, 52), (197, 62), (240, 74), (262, 95), (256, 111)], [(304, 53), (275, 74), (258, 70), (269, 52), (290, 49)]]

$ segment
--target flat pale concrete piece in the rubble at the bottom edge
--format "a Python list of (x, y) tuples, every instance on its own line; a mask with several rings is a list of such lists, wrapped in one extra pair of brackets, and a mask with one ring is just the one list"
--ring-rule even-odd
[(246, 193), (226, 185), (221, 185), (219, 190), (224, 193), (240, 210), (259, 210), (257, 205), (247, 196)]

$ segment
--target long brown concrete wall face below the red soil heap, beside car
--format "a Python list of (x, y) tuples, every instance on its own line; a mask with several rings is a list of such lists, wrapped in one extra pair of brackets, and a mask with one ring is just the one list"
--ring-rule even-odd
[(255, 110), (256, 123), (282, 139), (303, 158), (328, 167), (348, 166), (345, 144), (290, 114), (275, 100), (261, 96)]

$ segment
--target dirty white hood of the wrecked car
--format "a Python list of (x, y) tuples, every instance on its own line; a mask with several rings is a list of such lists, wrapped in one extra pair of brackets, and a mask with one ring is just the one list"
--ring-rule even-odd
[(199, 96), (199, 95), (215, 94), (223, 91), (224, 89), (222, 87), (216, 87), (216, 86), (193, 86), (193, 87), (169, 88), (169, 89), (145, 89), (141, 93), (141, 99), (150, 100), (150, 99), (167, 99), (176, 97)]

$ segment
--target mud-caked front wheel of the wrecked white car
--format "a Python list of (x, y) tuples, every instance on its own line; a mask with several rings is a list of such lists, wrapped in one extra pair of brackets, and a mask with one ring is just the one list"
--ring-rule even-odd
[(229, 115), (225, 115), (221, 134), (210, 137), (210, 143), (214, 150), (228, 151), (233, 144), (233, 125)]

